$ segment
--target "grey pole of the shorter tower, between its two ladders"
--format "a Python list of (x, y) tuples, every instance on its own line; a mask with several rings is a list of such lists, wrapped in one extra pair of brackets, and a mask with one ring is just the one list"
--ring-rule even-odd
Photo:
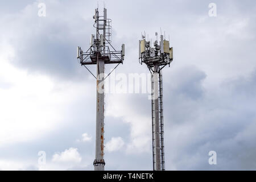
[(159, 125), (159, 88), (158, 88), (158, 64), (154, 65), (154, 138), (155, 138), (155, 170), (161, 170), (161, 156), (160, 156), (160, 125)]

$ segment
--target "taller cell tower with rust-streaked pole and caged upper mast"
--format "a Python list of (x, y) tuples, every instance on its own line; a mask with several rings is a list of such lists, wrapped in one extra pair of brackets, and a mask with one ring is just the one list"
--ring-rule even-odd
[[(93, 162), (95, 171), (104, 171), (104, 111), (105, 92), (104, 81), (105, 64), (121, 64), (125, 57), (125, 44), (122, 44), (122, 51), (116, 51), (111, 44), (112, 20), (107, 18), (107, 10), (104, 8), (104, 15), (100, 16), (98, 8), (95, 10), (93, 27), (96, 28), (96, 35), (90, 37), (90, 48), (84, 52), (81, 47), (77, 48), (77, 59), (80, 64), (90, 72), (86, 65), (97, 65), (97, 76), (92, 75), (97, 80), (96, 93), (96, 159)], [(110, 47), (109, 47), (110, 46)], [(118, 65), (115, 67), (117, 68)], [(114, 68), (114, 69), (115, 69)]]

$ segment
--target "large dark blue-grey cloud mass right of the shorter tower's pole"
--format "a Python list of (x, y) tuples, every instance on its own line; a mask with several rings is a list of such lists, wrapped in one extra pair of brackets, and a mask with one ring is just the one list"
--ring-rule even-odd
[[(192, 73), (191, 77), (200, 72)], [(201, 78), (197, 77), (195, 82), (195, 90), (201, 90)], [(253, 132), (256, 129), (255, 84), (254, 71), (247, 78), (224, 82), (216, 92), (208, 90), (200, 100), (180, 96), (172, 88), (165, 91), (168, 163), (174, 162), (176, 169), (185, 170), (256, 169), (253, 157), (256, 152), (253, 144), (256, 139)], [(191, 82), (188, 86), (195, 84)], [(217, 152), (216, 166), (208, 164), (208, 152), (212, 150)]]

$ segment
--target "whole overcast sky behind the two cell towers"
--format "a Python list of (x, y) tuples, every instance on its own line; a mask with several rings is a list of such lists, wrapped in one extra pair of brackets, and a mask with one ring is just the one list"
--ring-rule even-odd
[[(38, 16), (39, 3), (46, 17)], [(209, 17), (209, 3), (217, 16)], [(160, 27), (174, 47), (163, 71), (167, 170), (256, 169), (256, 2), (105, 1), (118, 73), (148, 73), (138, 40)], [(103, 7), (103, 1), (99, 1)], [(97, 1), (0, 2), (0, 169), (92, 170), (96, 82), (76, 59)], [(109, 72), (113, 65), (106, 66)], [(90, 67), (94, 73), (96, 68)], [(106, 94), (106, 170), (151, 170), (148, 94)], [(209, 165), (208, 152), (217, 152)], [(38, 152), (46, 152), (46, 165)]]

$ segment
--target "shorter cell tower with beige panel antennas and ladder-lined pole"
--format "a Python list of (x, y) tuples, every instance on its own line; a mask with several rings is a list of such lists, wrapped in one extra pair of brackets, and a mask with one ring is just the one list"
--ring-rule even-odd
[(139, 63), (147, 65), (151, 72), (151, 96), (152, 96), (152, 154), (154, 171), (164, 171), (164, 121), (163, 121), (163, 76), (162, 69), (173, 60), (173, 48), (170, 42), (156, 32), (154, 47), (150, 41), (146, 41), (146, 35), (139, 40)]

